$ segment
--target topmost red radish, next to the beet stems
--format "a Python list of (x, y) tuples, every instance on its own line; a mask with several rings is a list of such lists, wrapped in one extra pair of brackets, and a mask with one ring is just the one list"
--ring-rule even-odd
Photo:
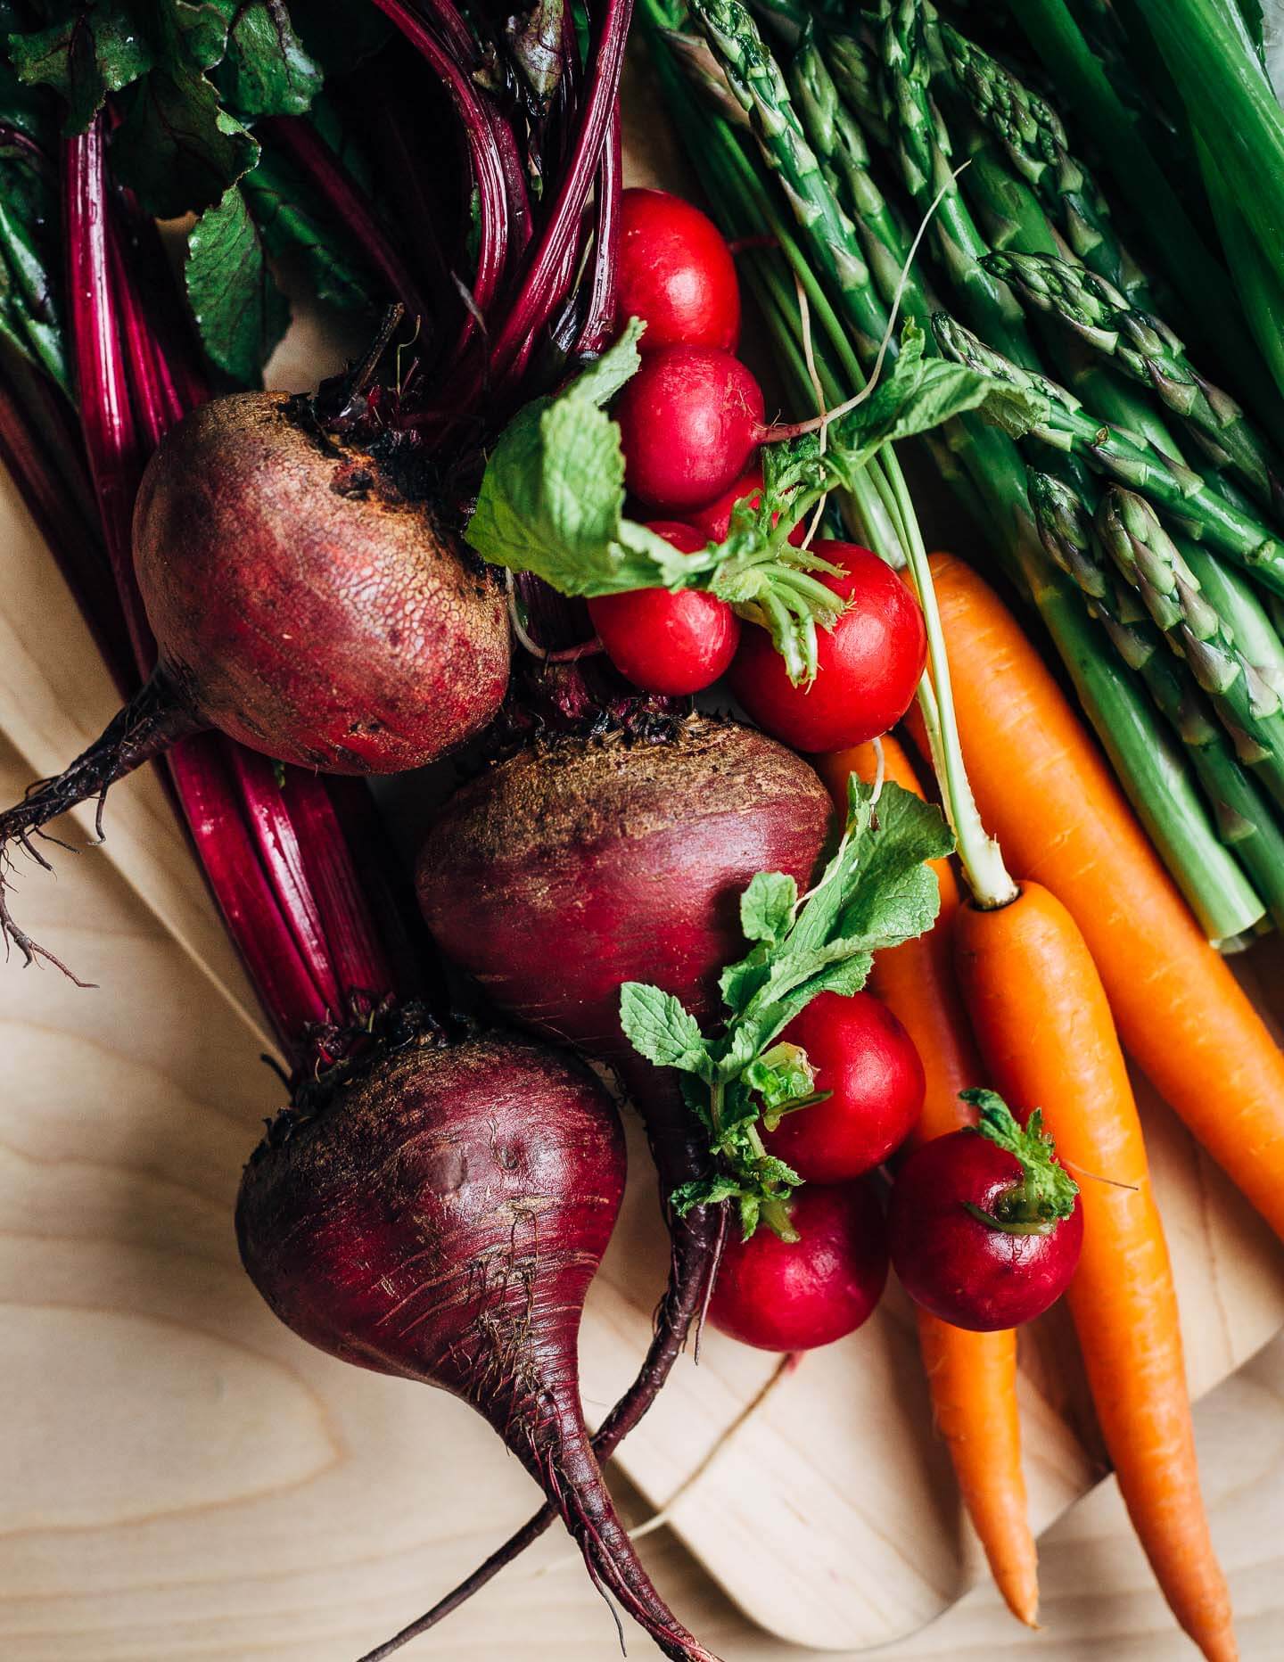
[(640, 349), (714, 346), (734, 352), (741, 289), (723, 233), (668, 191), (635, 188), (620, 203), (620, 326), (646, 322)]

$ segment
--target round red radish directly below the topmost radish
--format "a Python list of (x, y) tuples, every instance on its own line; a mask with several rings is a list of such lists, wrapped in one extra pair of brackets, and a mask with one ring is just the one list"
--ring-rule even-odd
[(704, 346), (666, 346), (644, 359), (613, 416), (628, 489), (674, 515), (726, 490), (764, 432), (754, 377), (731, 352)]

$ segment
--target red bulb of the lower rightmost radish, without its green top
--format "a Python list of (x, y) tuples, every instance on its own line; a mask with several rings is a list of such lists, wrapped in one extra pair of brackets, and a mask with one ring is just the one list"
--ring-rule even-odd
[(972, 1128), (935, 1137), (905, 1160), (889, 1223), (892, 1263), (915, 1305), (988, 1333), (1032, 1321), (1061, 1296), (1083, 1246), (1083, 1208), (1075, 1202), (1070, 1217), (1033, 1233), (1005, 1228), (998, 1220), (1020, 1178), (1015, 1155)]

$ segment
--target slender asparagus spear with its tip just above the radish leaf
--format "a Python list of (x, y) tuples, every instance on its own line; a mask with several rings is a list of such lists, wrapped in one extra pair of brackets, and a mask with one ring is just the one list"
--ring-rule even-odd
[(1199, 542), (1242, 565), (1266, 588), (1284, 595), (1284, 547), (1274, 532), (1214, 490), (1199, 474), (1086, 414), (1065, 387), (1013, 364), (948, 314), (937, 312), (932, 329), (947, 357), (1046, 397), (1045, 419), (1030, 429), (1037, 439), (1078, 454), (1098, 472), (1144, 492), (1188, 524)]

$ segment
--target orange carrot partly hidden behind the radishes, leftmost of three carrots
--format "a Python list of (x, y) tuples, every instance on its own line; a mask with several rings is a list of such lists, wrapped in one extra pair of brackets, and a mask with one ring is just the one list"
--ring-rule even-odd
[[(889, 779), (922, 794), (914, 766), (894, 738), (882, 740)], [(872, 781), (872, 745), (816, 758), (834, 801), (847, 801), (847, 774)], [(870, 987), (904, 1022), (927, 1075), (915, 1147), (967, 1125), (973, 1112), (958, 1092), (985, 1084), (953, 971), (952, 929), (958, 879), (947, 859), (932, 861), (940, 883), (940, 916), (919, 941), (879, 952)], [(995, 1586), (1028, 1627), (1038, 1615), (1038, 1552), (1027, 1516), (1022, 1433), (1017, 1413), (1017, 1335), (967, 1333), (917, 1310), (919, 1348), (932, 1413), (950, 1451), (958, 1492), (977, 1531)]]

